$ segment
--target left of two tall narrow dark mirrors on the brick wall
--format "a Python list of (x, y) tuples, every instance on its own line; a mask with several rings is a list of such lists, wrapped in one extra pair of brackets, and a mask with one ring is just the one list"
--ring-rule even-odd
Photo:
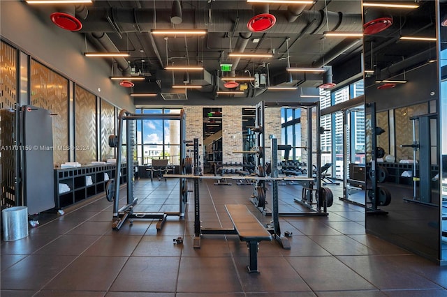
[(222, 164), (222, 109), (203, 108), (203, 152), (205, 173), (216, 174)]

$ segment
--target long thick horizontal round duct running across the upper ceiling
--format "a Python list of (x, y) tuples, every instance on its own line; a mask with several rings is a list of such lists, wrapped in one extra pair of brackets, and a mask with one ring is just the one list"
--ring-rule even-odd
[[(362, 29), (362, 15), (342, 14), (323, 10), (304, 10), (294, 22), (289, 22), (287, 12), (275, 10), (270, 13), (277, 19), (276, 24), (269, 29), (269, 33), (292, 34), (298, 33), (307, 26), (307, 33), (322, 34), (324, 31), (360, 31)], [(171, 10), (156, 10), (156, 29), (172, 29), (170, 21)], [(207, 17), (200, 17), (194, 10), (183, 10), (183, 29), (207, 29), (210, 32), (231, 32), (239, 18), (236, 31), (247, 32), (246, 24), (253, 17), (252, 10), (218, 10), (213, 13), (212, 26), (207, 23)], [(154, 10), (150, 8), (89, 8), (89, 13), (82, 21), (79, 32), (119, 32), (135, 31), (149, 32), (154, 29)]]

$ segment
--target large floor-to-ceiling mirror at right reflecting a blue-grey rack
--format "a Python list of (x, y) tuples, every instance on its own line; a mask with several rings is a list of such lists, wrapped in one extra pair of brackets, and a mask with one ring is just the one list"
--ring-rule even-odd
[(367, 233), (439, 261), (437, 1), (371, 2), (363, 1)]

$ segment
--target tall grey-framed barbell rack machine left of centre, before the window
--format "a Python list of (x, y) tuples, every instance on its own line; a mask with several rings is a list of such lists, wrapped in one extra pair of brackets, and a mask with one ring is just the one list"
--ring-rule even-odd
[[(122, 208), (119, 208), (119, 182), (115, 181), (115, 178), (111, 178), (105, 189), (106, 197), (109, 201), (113, 202), (113, 222), (112, 229), (119, 230), (122, 224), (129, 219), (133, 222), (133, 219), (158, 219), (159, 222), (156, 224), (156, 229), (159, 230), (163, 227), (166, 222), (166, 217), (168, 215), (178, 215), (179, 218), (184, 218), (186, 199), (187, 197), (187, 185), (186, 181), (181, 180), (182, 186), (179, 187), (179, 211), (178, 212), (164, 212), (164, 213), (136, 213), (133, 211), (133, 207), (137, 204), (138, 199), (133, 197), (133, 153), (135, 147), (135, 130), (134, 120), (177, 120), (180, 121), (180, 139), (184, 139), (186, 131), (186, 114), (182, 110), (180, 114), (131, 114), (126, 110), (122, 110), (118, 116), (118, 135), (110, 135), (109, 145), (111, 147), (117, 148), (117, 167), (115, 169), (115, 178), (119, 178), (121, 173), (122, 165), (122, 148), (126, 146), (126, 160), (127, 160), (127, 176), (129, 176), (129, 181), (126, 185), (127, 191), (127, 204)], [(123, 143), (124, 136), (124, 121), (126, 121), (126, 144)], [(185, 142), (180, 142), (180, 160), (185, 160), (186, 151)], [(180, 172), (182, 172), (184, 167), (184, 162), (180, 164)], [(186, 195), (184, 189), (186, 188)]]

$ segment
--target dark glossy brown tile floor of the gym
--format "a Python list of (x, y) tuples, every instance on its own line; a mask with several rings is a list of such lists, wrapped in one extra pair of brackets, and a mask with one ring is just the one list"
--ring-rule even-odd
[[(201, 181), (203, 227), (231, 227), (228, 203), (247, 204), (268, 223), (249, 202), (251, 192), (250, 185)], [(300, 193), (298, 185), (279, 186), (279, 211), (306, 212), (293, 202)], [(135, 197), (135, 211), (178, 211), (175, 180), (140, 179)], [(447, 267), (365, 234), (360, 206), (335, 199), (328, 216), (281, 217), (291, 250), (261, 242), (260, 274), (247, 273), (247, 246), (237, 236), (202, 236), (193, 248), (193, 211), (191, 193), (185, 220), (170, 216), (158, 232), (156, 220), (112, 230), (105, 198), (43, 215), (27, 238), (1, 243), (1, 296), (447, 296)]]

